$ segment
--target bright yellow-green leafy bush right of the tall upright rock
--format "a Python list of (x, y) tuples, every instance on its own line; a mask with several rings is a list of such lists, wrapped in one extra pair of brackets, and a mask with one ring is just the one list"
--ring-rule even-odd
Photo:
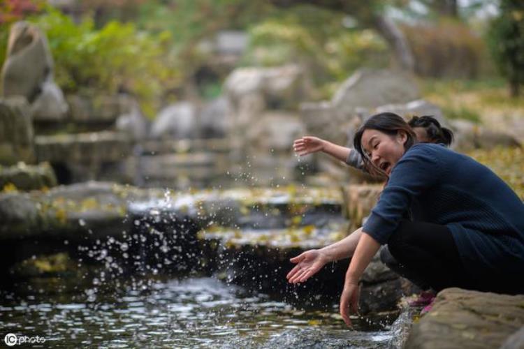
[(177, 78), (170, 68), (171, 36), (166, 31), (146, 34), (119, 22), (97, 30), (88, 18), (75, 24), (52, 8), (29, 20), (47, 34), (55, 79), (66, 92), (116, 94), (124, 89), (136, 94), (145, 114), (152, 115), (163, 87)]

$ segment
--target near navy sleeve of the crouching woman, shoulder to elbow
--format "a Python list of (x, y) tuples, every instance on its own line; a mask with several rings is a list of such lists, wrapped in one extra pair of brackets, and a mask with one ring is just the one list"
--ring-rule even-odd
[(443, 166), (437, 149), (414, 145), (395, 165), (379, 202), (367, 218), (363, 231), (380, 244), (386, 244), (398, 228), (412, 201), (442, 177)]

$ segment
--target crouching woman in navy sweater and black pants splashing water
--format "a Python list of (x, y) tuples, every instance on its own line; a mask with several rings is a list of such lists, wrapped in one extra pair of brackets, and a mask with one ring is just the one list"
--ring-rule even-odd
[(354, 147), (367, 166), (388, 177), (384, 191), (362, 228), (292, 258), (289, 282), (304, 282), (327, 262), (350, 257), (340, 314), (351, 325), (358, 281), (379, 246), (388, 244), (437, 291), (524, 292), (524, 204), (495, 173), (442, 144), (418, 143), (393, 113), (368, 119)]

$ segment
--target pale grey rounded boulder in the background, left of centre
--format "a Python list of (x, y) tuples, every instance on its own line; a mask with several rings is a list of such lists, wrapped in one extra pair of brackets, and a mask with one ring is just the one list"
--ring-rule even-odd
[(180, 102), (163, 108), (151, 126), (151, 138), (194, 138), (196, 135), (196, 107)]

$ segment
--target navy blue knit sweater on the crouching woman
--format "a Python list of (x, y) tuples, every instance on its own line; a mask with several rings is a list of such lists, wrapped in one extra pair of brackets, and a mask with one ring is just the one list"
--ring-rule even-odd
[[(524, 275), (524, 204), (489, 168), (442, 144), (415, 144), (391, 172), (363, 231), (386, 244), (403, 217), (446, 225), (464, 267)], [(423, 234), (423, 232), (421, 232)]]

